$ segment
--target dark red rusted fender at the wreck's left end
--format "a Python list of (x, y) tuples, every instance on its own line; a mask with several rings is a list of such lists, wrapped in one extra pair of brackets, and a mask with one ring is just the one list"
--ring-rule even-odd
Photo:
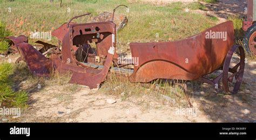
[(37, 49), (35, 49), (28, 42), (28, 39), (23, 36), (8, 36), (6, 37), (14, 42), (21, 57), (28, 65), (30, 71), (36, 76), (49, 76), (51, 62), (48, 58), (44, 57)]

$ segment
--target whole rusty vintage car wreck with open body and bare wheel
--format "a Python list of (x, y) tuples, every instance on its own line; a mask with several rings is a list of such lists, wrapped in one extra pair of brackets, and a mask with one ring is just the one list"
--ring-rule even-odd
[[(52, 35), (58, 38), (57, 46), (39, 42), (44, 51), (38, 51), (28, 43), (24, 35), (7, 37), (16, 47), (21, 58), (36, 76), (49, 76), (54, 70), (72, 71), (70, 83), (86, 85), (90, 89), (104, 82), (110, 69), (129, 76), (130, 82), (148, 83), (154, 79), (200, 80), (213, 86), (223, 87), (226, 92), (237, 93), (242, 83), (245, 68), (245, 53), (241, 46), (234, 45), (232, 21), (226, 21), (183, 40), (171, 42), (130, 43), (132, 58), (138, 58), (133, 69), (124, 69), (117, 63), (116, 24), (113, 21), (95, 23), (72, 23), (71, 18)], [(114, 15), (113, 15), (114, 16)], [(207, 32), (225, 32), (226, 39), (206, 38)], [(90, 46), (96, 43), (96, 50)], [(232, 55), (240, 51), (240, 62), (230, 68)], [(48, 57), (42, 52), (51, 50)], [(223, 70), (214, 79), (205, 76)], [(222, 85), (220, 86), (220, 80)], [(234, 83), (231, 87), (230, 83)]]

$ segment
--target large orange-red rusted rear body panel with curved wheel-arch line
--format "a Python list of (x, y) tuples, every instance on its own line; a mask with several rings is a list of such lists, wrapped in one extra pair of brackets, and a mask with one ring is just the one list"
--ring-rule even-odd
[[(226, 32), (224, 39), (207, 39), (207, 33)], [(130, 43), (132, 57), (138, 59), (129, 77), (131, 82), (153, 79), (195, 80), (223, 65), (233, 46), (232, 21), (208, 28), (187, 39), (173, 42)]]

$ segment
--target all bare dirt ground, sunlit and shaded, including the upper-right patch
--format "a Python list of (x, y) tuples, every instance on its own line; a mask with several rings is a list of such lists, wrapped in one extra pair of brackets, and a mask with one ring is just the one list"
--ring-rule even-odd
[[(243, 12), (245, 1), (206, 4), (212, 14), (226, 20), (227, 14)], [(205, 11), (199, 11), (204, 13)], [(236, 95), (218, 94), (203, 84), (191, 93), (193, 108), (174, 107), (175, 101), (143, 94), (138, 97), (114, 96), (66, 84), (46, 86), (30, 94), (29, 108), (21, 122), (255, 122), (256, 62), (245, 66), (241, 91)], [(24, 83), (25, 85), (25, 83)], [(188, 87), (192, 85), (188, 84)], [(75, 90), (70, 90), (75, 89)], [(186, 102), (186, 101), (184, 101)], [(113, 104), (112, 104), (113, 103)], [(2, 120), (6, 121), (6, 120)]]

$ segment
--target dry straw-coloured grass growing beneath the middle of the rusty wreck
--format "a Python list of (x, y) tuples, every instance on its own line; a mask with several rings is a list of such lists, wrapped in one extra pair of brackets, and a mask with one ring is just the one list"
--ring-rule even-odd
[[(156, 79), (151, 83), (131, 83), (126, 76), (110, 73), (99, 91), (116, 95), (122, 100), (143, 95), (154, 95), (157, 98), (169, 100), (173, 106), (188, 106), (183, 87), (175, 80)], [(121, 94), (122, 93), (122, 94)], [(168, 98), (169, 97), (169, 98)], [(171, 99), (171, 100), (170, 100)], [(184, 102), (185, 101), (185, 102)]]

